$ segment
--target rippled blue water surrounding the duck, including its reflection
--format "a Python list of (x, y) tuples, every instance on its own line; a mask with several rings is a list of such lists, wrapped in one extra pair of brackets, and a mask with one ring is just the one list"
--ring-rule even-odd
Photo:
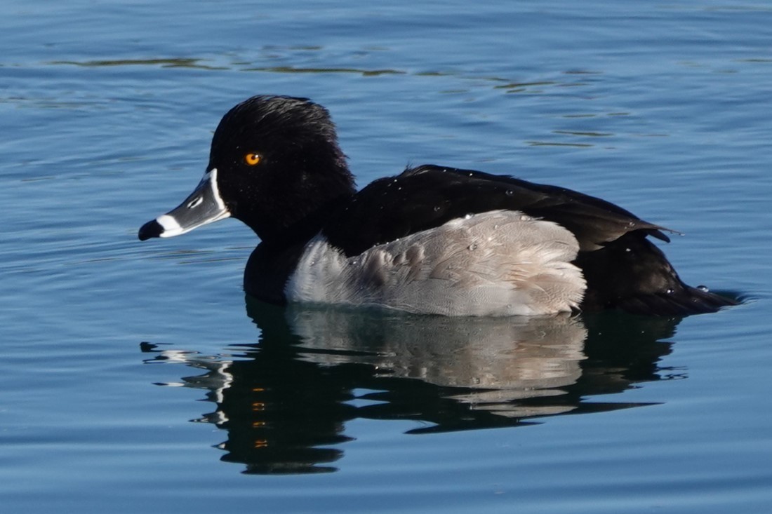
[[(8, 512), (768, 512), (763, 2), (5, 2)], [(684, 232), (686, 320), (252, 303), (248, 229), (140, 243), (256, 93), (333, 113), (358, 184), (516, 174)], [(180, 387), (172, 387), (180, 386)]]

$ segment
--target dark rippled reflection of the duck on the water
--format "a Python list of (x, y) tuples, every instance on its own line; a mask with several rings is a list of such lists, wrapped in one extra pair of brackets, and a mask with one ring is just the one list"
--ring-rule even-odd
[[(222, 460), (247, 473), (334, 472), (357, 418), (411, 420), (409, 434), (533, 424), (532, 418), (645, 404), (594, 402), (634, 384), (679, 377), (658, 367), (680, 318), (452, 318), (383, 310), (279, 307), (247, 296), (259, 343), (203, 357), (143, 343), (148, 362), (205, 370), (225, 429)], [(180, 385), (180, 384), (175, 384)]]

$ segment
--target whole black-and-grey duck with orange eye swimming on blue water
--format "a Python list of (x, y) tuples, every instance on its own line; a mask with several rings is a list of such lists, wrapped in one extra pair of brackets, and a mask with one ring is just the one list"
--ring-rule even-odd
[(422, 165), (357, 192), (330, 114), (304, 98), (233, 107), (198, 187), (139, 238), (229, 217), (261, 240), (244, 289), (271, 303), (449, 316), (685, 315), (735, 303), (679, 279), (649, 240), (671, 231), (577, 191)]

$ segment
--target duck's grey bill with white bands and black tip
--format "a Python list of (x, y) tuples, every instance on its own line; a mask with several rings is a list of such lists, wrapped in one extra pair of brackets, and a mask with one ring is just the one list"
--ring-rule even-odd
[(147, 221), (140, 228), (140, 241), (150, 238), (173, 238), (201, 225), (212, 223), (231, 215), (222, 201), (217, 188), (217, 169), (207, 171), (195, 191), (177, 208)]

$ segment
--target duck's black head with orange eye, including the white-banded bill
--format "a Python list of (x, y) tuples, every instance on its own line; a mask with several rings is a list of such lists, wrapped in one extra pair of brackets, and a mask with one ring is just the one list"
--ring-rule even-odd
[(308, 237), (354, 194), (326, 109), (303, 98), (253, 96), (222, 117), (204, 178), (139, 238), (171, 237), (232, 216), (264, 242)]

